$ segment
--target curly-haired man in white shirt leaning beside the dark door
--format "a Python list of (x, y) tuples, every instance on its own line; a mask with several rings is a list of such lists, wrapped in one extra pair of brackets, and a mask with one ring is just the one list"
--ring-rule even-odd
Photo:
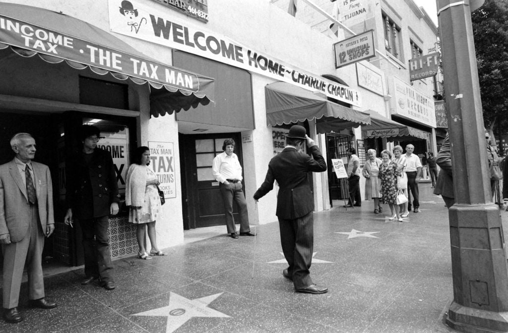
[(242, 166), (238, 161), (233, 139), (224, 140), (223, 153), (213, 159), (213, 177), (219, 182), (220, 194), (223, 197), (224, 210), (226, 211), (226, 226), (231, 238), (237, 239), (235, 220), (233, 218), (233, 200), (238, 206), (240, 216), (240, 236), (255, 236), (250, 232), (247, 203), (242, 188)]

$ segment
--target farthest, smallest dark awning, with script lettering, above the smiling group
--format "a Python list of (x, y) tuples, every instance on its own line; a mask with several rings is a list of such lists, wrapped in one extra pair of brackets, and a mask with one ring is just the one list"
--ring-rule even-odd
[(379, 115), (373, 110), (367, 110), (370, 114), (370, 125), (362, 125), (362, 138), (390, 138), (390, 137), (414, 137), (427, 139), (427, 132), (410, 126), (403, 125), (391, 119)]

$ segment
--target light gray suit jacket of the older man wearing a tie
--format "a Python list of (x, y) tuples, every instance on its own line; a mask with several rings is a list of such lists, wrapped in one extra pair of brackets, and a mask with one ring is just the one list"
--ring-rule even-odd
[[(54, 224), (53, 185), (47, 165), (31, 162), (37, 192), (39, 218), (43, 232), (47, 224)], [(11, 242), (21, 241), (30, 221), (26, 186), (14, 159), (0, 165), (0, 235), (10, 234)]]

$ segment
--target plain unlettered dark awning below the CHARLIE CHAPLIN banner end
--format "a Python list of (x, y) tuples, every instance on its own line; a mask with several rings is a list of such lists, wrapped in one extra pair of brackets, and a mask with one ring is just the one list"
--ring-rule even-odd
[[(318, 119), (319, 124), (333, 119), (334, 131), (347, 127), (370, 124), (370, 116), (328, 101), (309, 90), (287, 82), (274, 82), (265, 86), (266, 122), (268, 125), (296, 123)], [(316, 122), (317, 122), (316, 121)], [(342, 128), (339, 128), (342, 127)], [(318, 132), (320, 127), (316, 125)]]

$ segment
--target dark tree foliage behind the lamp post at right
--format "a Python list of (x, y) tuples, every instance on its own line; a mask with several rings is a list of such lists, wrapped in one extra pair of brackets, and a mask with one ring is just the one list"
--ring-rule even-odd
[(483, 116), (500, 134), (508, 128), (508, 0), (486, 0), (471, 14)]

